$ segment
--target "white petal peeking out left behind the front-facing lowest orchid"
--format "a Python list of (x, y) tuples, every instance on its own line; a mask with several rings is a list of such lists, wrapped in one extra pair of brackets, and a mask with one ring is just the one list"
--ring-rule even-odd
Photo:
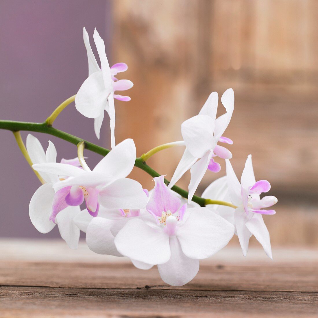
[(114, 220), (105, 218), (93, 218), (87, 226), (86, 243), (93, 252), (98, 254), (107, 254), (122, 256), (114, 245), (114, 235), (110, 232)]

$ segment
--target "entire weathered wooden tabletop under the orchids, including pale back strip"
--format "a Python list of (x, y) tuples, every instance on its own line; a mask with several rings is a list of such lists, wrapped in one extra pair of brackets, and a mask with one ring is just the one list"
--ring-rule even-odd
[(226, 247), (194, 280), (97, 255), (85, 243), (0, 240), (0, 317), (318, 317), (318, 252)]

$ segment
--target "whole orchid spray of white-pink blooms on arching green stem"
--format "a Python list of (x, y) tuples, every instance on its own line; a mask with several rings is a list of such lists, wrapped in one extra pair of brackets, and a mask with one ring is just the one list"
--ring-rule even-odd
[[(126, 256), (140, 269), (158, 267), (164, 282), (181, 286), (192, 280), (199, 270), (199, 260), (225, 247), (236, 234), (246, 256), (252, 235), (272, 258), (269, 233), (262, 214), (273, 215), (276, 197), (260, 194), (270, 190), (266, 180), (255, 180), (252, 157), (247, 157), (239, 182), (232, 168), (230, 150), (220, 143), (232, 145), (224, 136), (234, 110), (234, 92), (227, 89), (221, 97), (225, 113), (216, 117), (218, 93), (212, 92), (199, 114), (181, 125), (182, 141), (169, 142), (136, 157), (132, 139), (115, 143), (115, 102), (129, 101), (115, 94), (133, 86), (117, 74), (128, 69), (125, 63), (109, 66), (104, 41), (94, 31), (93, 40), (100, 66), (93, 54), (86, 29), (84, 45), (88, 59), (88, 77), (76, 95), (65, 100), (43, 123), (0, 121), (0, 128), (13, 132), (25, 159), (41, 186), (29, 205), (32, 224), (42, 233), (58, 226), (61, 237), (70, 248), (77, 248), (80, 231), (86, 232), (86, 243), (96, 253)], [(53, 128), (55, 119), (75, 101), (79, 113), (94, 118), (94, 131), (99, 139), (106, 111), (110, 118), (111, 150)], [(56, 136), (77, 146), (77, 157), (56, 162), (57, 151), (49, 141), (46, 152), (36, 137), (29, 134), (26, 147), (20, 131), (40, 132)], [(146, 162), (157, 152), (184, 146), (183, 156), (171, 182), (164, 171), (157, 173)], [(91, 169), (84, 149), (102, 156)], [(225, 159), (226, 176), (212, 182), (202, 197), (194, 193), (207, 170), (219, 173), (214, 159)], [(134, 167), (154, 179), (150, 191), (127, 176)], [(191, 180), (188, 191), (175, 184), (186, 171)], [(211, 173), (210, 172), (210, 173)], [(80, 206), (82, 205), (82, 210)]]

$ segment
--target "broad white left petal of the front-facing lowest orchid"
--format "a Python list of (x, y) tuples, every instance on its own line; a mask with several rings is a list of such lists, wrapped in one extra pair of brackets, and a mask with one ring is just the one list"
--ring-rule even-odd
[(132, 218), (115, 237), (117, 250), (130, 259), (162, 264), (170, 259), (169, 236), (139, 218)]

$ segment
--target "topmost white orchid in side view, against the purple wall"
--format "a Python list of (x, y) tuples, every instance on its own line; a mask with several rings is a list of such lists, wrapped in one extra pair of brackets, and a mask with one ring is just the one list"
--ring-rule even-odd
[(115, 106), (114, 98), (128, 101), (130, 97), (114, 94), (115, 91), (125, 91), (133, 87), (128, 79), (116, 79), (115, 75), (128, 69), (125, 63), (117, 63), (109, 67), (105, 53), (105, 44), (96, 28), (94, 31), (94, 42), (100, 58), (99, 67), (92, 48), (89, 44), (89, 36), (83, 28), (84, 44), (88, 58), (88, 78), (84, 81), (75, 97), (76, 109), (85, 117), (94, 118), (94, 130), (97, 138), (100, 138), (100, 127), (106, 110), (110, 118), (111, 145), (115, 147)]

